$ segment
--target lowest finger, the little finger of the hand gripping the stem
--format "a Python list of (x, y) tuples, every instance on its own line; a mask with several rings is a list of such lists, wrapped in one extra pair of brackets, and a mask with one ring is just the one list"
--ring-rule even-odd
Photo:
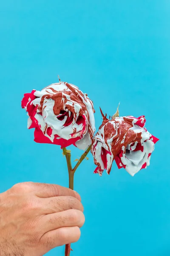
[(41, 239), (42, 243), (47, 250), (64, 244), (75, 243), (80, 238), (79, 227), (60, 227), (57, 230), (52, 230), (45, 233)]

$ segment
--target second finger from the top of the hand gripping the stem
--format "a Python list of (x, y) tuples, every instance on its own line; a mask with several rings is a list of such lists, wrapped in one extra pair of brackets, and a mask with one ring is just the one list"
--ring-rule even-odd
[(68, 209), (77, 209), (83, 212), (82, 203), (72, 196), (56, 196), (52, 198), (42, 198), (42, 214), (62, 212)]

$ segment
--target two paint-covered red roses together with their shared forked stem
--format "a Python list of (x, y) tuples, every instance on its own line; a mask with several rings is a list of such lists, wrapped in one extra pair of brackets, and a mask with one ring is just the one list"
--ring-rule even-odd
[[(118, 168), (124, 168), (134, 176), (150, 165), (150, 156), (158, 141), (144, 127), (144, 116), (119, 117), (116, 113), (107, 118), (102, 113), (102, 124), (95, 134), (94, 105), (86, 93), (74, 84), (62, 82), (51, 84), (41, 91), (32, 90), (24, 94), (22, 108), (28, 112), (28, 129), (34, 128), (34, 141), (60, 145), (67, 160), (69, 188), (74, 188), (74, 173), (82, 160), (91, 151), (100, 176), (106, 169), (111, 172), (115, 160)], [(71, 151), (74, 145), (84, 151), (74, 168)], [(69, 256), (71, 245), (66, 244), (65, 256)]]

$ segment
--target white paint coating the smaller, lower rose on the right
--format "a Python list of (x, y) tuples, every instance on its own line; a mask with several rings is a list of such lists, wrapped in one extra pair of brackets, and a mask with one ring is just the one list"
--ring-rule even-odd
[[(143, 146), (144, 150), (143, 150), (143, 152), (141, 150), (134, 151), (138, 144), (137, 142), (135, 142), (133, 146), (131, 145), (132, 143), (127, 145), (126, 150), (125, 150), (125, 146), (122, 145), (122, 151), (124, 153), (122, 154), (122, 157), (121, 157), (122, 163), (120, 163), (119, 166), (122, 167), (122, 164), (125, 165), (126, 171), (130, 175), (134, 176), (137, 172), (139, 172), (139, 170), (142, 168), (144, 163), (146, 163), (146, 166), (150, 165), (150, 157), (148, 157), (148, 155), (153, 152), (154, 143), (153, 143), (152, 139), (150, 139), (152, 135), (145, 128), (141, 128), (139, 125), (135, 125), (135, 123), (138, 121), (138, 119), (134, 118), (133, 116), (127, 116), (127, 117), (133, 119), (133, 122), (132, 122), (133, 127), (130, 129), (133, 130), (135, 133), (142, 133), (141, 145)], [(123, 121), (123, 117), (116, 118), (116, 121), (119, 121), (121, 123)], [(144, 118), (141, 121), (144, 122)], [(117, 136), (118, 128), (119, 128), (119, 123), (115, 123), (114, 120), (110, 120), (109, 122), (111, 122), (111, 124), (116, 129), (115, 134), (114, 135), (111, 134), (111, 136), (107, 140), (107, 144), (106, 144), (105, 143), (105, 134), (104, 134), (105, 125), (103, 125), (102, 128), (99, 129), (99, 131), (95, 135), (94, 143), (92, 145), (92, 154), (94, 155), (95, 161), (97, 163), (99, 163), (102, 170), (105, 169), (103, 162), (102, 162), (102, 158), (101, 158), (102, 147), (105, 148), (107, 151), (111, 152), (111, 155), (107, 154), (107, 168), (106, 168), (107, 172), (112, 166), (113, 158), (116, 157), (116, 156), (113, 156), (111, 147), (113, 146), (112, 142), (113, 142), (114, 138)], [(123, 144), (125, 142), (125, 137), (126, 137), (126, 134), (123, 137), (121, 144)], [(116, 145), (116, 143), (118, 143), (118, 141), (119, 141), (119, 137), (117, 138), (114, 145)], [(127, 151), (127, 150), (129, 150), (129, 151)], [(101, 171), (98, 171), (98, 172), (99, 172), (99, 175), (102, 175)]]

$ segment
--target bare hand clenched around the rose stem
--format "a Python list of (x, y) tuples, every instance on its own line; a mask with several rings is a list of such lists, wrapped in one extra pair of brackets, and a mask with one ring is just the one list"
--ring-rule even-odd
[(0, 256), (42, 256), (78, 241), (84, 222), (77, 192), (54, 184), (18, 183), (0, 194)]

